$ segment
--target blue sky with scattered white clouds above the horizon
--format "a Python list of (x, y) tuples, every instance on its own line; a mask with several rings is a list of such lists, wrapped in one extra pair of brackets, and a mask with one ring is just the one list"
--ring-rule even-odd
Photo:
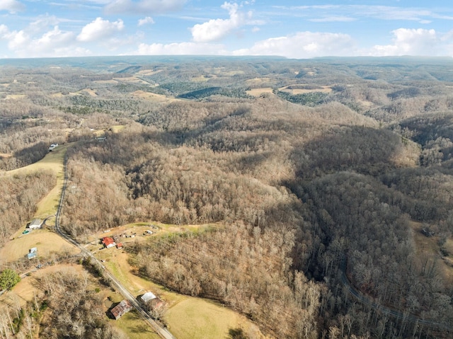
[(446, 0), (0, 0), (0, 57), (453, 57)]

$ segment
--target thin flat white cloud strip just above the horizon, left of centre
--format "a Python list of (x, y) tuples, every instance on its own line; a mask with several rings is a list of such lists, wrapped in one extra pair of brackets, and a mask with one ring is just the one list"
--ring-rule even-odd
[(195, 42), (180, 42), (168, 45), (163, 44), (140, 44), (137, 52), (140, 55), (225, 55), (223, 45), (203, 44)]

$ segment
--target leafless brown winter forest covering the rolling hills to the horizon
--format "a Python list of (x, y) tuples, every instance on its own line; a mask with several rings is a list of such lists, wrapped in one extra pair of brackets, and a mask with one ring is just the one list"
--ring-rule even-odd
[[(8, 84), (0, 168), (73, 142), (69, 234), (84, 241), (134, 222), (215, 223), (131, 242), (130, 265), (168, 289), (221, 302), (271, 338), (449, 338), (449, 59), (124, 61), (0, 69)], [(0, 185), (5, 243), (55, 176), (4, 175)], [(121, 338), (93, 306), (90, 279), (56, 272), (40, 282), (45, 299), (4, 313), (0, 335)]]

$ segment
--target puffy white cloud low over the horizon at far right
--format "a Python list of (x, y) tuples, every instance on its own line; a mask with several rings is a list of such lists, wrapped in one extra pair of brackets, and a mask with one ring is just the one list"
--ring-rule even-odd
[(439, 55), (442, 50), (441, 38), (435, 30), (398, 28), (393, 30), (392, 45), (375, 45), (369, 55)]

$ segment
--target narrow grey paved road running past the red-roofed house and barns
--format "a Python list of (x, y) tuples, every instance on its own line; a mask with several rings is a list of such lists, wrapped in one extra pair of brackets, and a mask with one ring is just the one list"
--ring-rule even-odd
[(108, 277), (108, 279), (110, 279), (110, 282), (115, 287), (115, 289), (117, 289), (117, 291), (120, 292), (122, 294), (122, 296), (125, 297), (125, 299), (130, 301), (130, 303), (135, 307), (135, 309), (137, 309), (139, 314), (141, 314), (143, 316), (145, 321), (147, 321), (147, 323), (149, 323), (149, 325), (151, 325), (152, 328), (154, 328), (154, 331), (156, 331), (156, 333), (158, 333), (164, 339), (176, 339), (166, 328), (160, 326), (159, 323), (154, 321), (153, 318), (151, 318), (151, 316), (149, 316), (147, 311), (143, 309), (142, 305), (139, 304), (137, 299), (135, 299), (135, 297), (129, 292), (129, 290), (127, 288), (122, 286), (121, 282), (119, 280), (117, 280), (117, 278), (112, 273), (110, 273), (108, 270), (105, 269), (105, 266), (101, 263), (101, 261), (99, 261), (93, 255), (93, 253), (91, 253), (80, 243), (78, 243), (77, 241), (72, 239), (71, 236), (64, 233), (64, 231), (62, 231), (62, 229), (60, 228), (59, 217), (60, 217), (60, 213), (62, 212), (64, 193), (66, 191), (67, 181), (68, 181), (67, 156), (64, 156), (64, 166), (63, 167), (64, 167), (64, 183), (63, 183), (62, 195), (59, 198), (57, 214), (55, 214), (55, 218), (56, 218), (55, 219), (55, 231), (57, 231), (57, 234), (59, 234), (59, 236), (62, 236), (63, 239), (65, 239), (69, 243), (71, 243), (74, 246), (76, 246), (77, 248), (79, 248), (81, 253), (84, 253), (85, 255), (89, 256), (93, 263), (96, 263), (99, 265), (99, 267), (103, 268), (105, 277)]

